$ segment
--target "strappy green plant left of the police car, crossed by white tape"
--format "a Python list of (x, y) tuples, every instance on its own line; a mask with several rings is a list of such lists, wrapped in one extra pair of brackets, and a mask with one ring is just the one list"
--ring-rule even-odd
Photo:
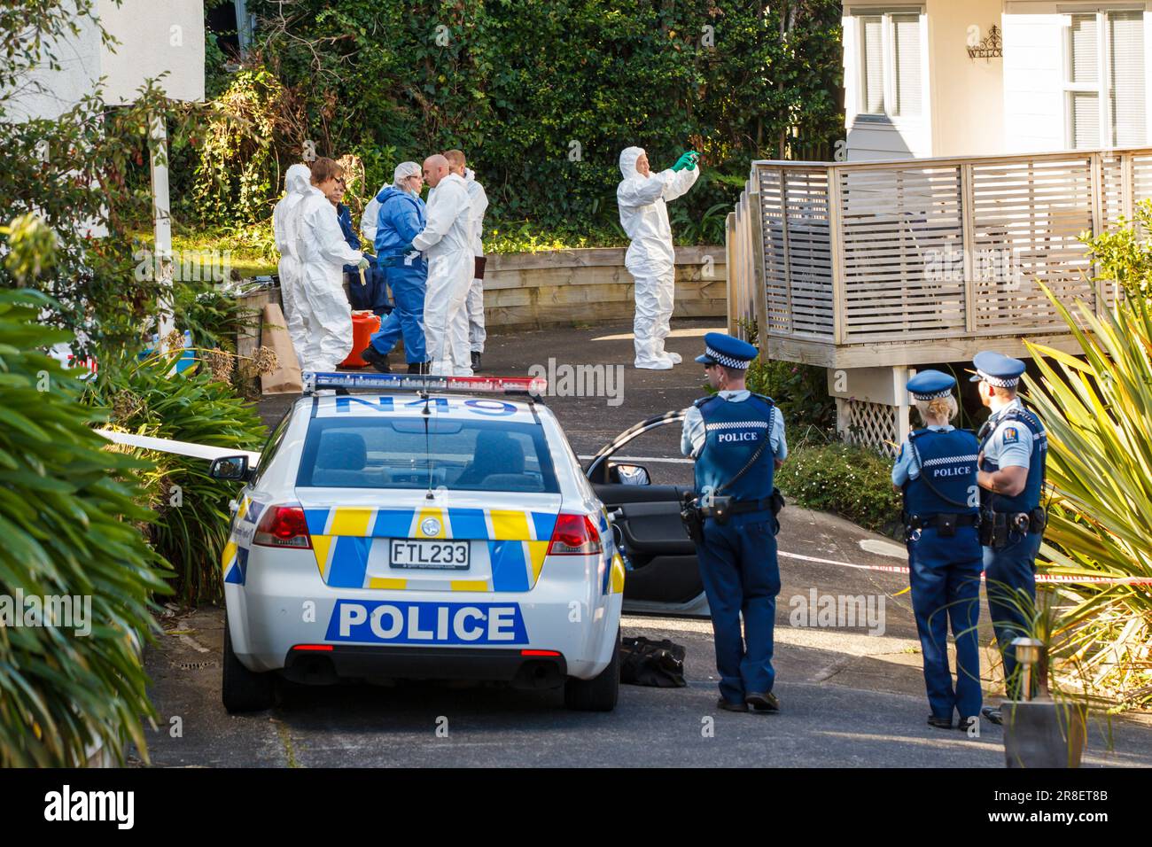
[[(152, 356), (101, 376), (90, 401), (112, 409), (112, 426), (192, 444), (259, 451), (266, 437), (259, 415), (206, 372), (170, 375), (170, 356)], [(154, 463), (142, 475), (156, 517), (149, 539), (176, 572), (185, 603), (222, 597), (220, 555), (228, 537), (228, 501), (238, 483), (207, 475), (203, 459), (144, 452)]]

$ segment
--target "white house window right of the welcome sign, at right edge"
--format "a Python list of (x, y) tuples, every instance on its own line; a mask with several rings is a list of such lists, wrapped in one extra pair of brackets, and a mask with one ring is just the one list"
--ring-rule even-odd
[(1146, 143), (1144, 13), (1066, 17), (1064, 97), (1074, 149)]

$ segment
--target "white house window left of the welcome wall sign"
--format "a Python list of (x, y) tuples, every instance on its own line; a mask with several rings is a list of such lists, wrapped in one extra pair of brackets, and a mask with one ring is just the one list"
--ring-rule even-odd
[(861, 56), (859, 114), (919, 116), (923, 111), (920, 13), (861, 13), (856, 20)]

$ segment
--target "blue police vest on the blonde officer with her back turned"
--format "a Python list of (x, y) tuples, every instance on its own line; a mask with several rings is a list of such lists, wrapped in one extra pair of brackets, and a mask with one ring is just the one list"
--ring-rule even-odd
[(908, 449), (919, 457), (920, 472), (904, 483), (904, 511), (920, 517), (978, 512), (973, 497), (977, 448), (976, 436), (968, 430), (909, 433)]

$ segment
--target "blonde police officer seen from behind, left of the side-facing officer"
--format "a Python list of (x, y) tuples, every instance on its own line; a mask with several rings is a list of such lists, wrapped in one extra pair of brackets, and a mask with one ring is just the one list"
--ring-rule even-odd
[[(980, 655), (976, 625), (984, 567), (976, 483), (976, 436), (948, 422), (956, 416), (956, 379), (923, 371), (908, 390), (925, 429), (900, 447), (892, 483), (904, 492), (909, 583), (924, 655), (931, 726), (950, 729), (953, 712), (968, 731), (980, 714)], [(948, 668), (948, 622), (956, 641), (956, 682)]]

